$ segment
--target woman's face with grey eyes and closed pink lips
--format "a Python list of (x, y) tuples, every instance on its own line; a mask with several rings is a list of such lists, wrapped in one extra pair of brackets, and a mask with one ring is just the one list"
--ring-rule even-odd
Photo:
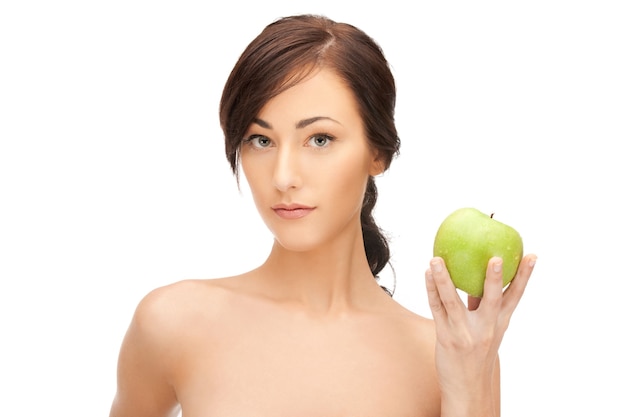
[(282, 246), (296, 251), (361, 234), (367, 180), (382, 165), (352, 91), (326, 69), (268, 101), (241, 145), (261, 217)]

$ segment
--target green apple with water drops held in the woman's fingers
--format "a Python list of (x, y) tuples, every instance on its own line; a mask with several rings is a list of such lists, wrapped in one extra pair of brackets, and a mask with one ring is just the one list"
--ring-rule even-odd
[(520, 234), (492, 216), (475, 208), (460, 208), (444, 219), (435, 236), (434, 256), (443, 258), (454, 286), (473, 297), (483, 295), (489, 259), (502, 258), (505, 287), (515, 277), (523, 256)]

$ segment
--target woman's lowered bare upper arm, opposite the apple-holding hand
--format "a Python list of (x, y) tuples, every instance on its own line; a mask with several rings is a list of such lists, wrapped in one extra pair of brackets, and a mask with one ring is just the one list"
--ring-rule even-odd
[(159, 291), (138, 305), (120, 349), (117, 392), (110, 417), (174, 417), (179, 413), (171, 381), (168, 308)]

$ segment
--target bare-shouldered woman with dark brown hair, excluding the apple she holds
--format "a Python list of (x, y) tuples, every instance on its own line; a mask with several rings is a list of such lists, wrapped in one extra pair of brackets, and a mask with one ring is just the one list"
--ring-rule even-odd
[(293, 16), (252, 41), (220, 121), (272, 250), (252, 271), (139, 303), (111, 417), (499, 415), (497, 352), (535, 256), (504, 292), (492, 259), (469, 308), (433, 259), (434, 320), (381, 289), (374, 177), (399, 149), (394, 105), (382, 51), (353, 26)]

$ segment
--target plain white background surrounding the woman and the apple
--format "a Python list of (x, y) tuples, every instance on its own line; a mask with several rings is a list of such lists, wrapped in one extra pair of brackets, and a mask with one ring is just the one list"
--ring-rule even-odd
[(397, 79), (376, 211), (395, 298), (429, 316), (440, 221), (495, 212), (539, 255), (501, 348), (503, 415), (624, 415), (621, 2), (340, 3), (2, 3), (3, 415), (108, 415), (140, 298), (264, 259), (217, 108), (245, 45), (302, 12), (364, 29)]

